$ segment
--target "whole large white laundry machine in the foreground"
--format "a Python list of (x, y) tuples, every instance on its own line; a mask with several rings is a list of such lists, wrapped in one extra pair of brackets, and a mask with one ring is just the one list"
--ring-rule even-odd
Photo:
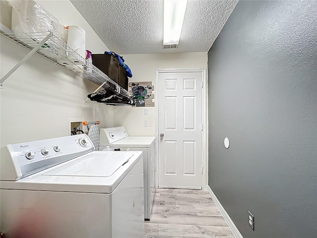
[(7, 145), (5, 238), (143, 238), (143, 153), (94, 151), (85, 134)]

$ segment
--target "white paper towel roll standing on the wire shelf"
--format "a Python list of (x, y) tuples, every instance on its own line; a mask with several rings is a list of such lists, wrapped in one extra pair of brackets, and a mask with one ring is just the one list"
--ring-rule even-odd
[(68, 26), (67, 45), (84, 59), (86, 58), (85, 37), (84, 29), (79, 26)]

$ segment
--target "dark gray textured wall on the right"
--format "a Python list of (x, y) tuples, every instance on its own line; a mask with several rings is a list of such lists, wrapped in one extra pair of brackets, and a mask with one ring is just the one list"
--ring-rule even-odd
[(239, 1), (208, 59), (212, 191), (244, 238), (316, 238), (317, 1)]

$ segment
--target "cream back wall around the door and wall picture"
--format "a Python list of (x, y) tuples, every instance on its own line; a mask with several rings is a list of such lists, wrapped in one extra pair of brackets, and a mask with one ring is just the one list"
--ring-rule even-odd
[[(166, 68), (207, 68), (207, 52), (182, 54), (138, 54), (122, 55), (131, 68), (130, 82), (152, 81), (155, 85), (156, 69)], [(149, 116), (144, 116), (143, 107), (114, 107), (113, 126), (125, 126), (128, 135), (154, 136), (154, 107), (149, 107)], [(149, 126), (144, 126), (144, 119)]]

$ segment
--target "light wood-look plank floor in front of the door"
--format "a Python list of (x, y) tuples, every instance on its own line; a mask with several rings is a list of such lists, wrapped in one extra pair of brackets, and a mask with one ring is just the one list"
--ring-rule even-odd
[(146, 238), (234, 238), (208, 191), (159, 188)]

